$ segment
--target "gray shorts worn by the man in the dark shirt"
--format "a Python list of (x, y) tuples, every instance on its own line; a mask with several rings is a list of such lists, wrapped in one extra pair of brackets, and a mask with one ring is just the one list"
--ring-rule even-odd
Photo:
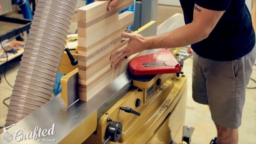
[(194, 52), (192, 97), (209, 105), (216, 124), (232, 129), (241, 125), (245, 88), (255, 58), (256, 45), (244, 57), (232, 61), (210, 60)]

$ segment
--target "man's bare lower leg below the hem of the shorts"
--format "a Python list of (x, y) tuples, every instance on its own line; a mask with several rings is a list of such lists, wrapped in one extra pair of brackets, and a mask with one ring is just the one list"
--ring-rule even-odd
[(231, 129), (216, 124), (217, 127), (217, 144), (237, 144), (238, 129)]

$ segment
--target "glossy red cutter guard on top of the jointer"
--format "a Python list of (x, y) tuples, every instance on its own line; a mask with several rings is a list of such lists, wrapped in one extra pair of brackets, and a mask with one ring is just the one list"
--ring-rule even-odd
[(133, 58), (129, 63), (133, 75), (180, 73), (181, 65), (169, 49)]

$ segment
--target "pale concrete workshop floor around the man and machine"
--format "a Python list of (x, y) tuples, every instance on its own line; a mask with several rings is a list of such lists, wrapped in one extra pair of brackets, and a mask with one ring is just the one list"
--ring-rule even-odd
[[(180, 7), (170, 7), (159, 5), (158, 7), (158, 24), (168, 19), (174, 13), (182, 13)], [(0, 23), (0, 33), (8, 29), (16, 28), (16, 25)], [(17, 75), (20, 57), (8, 62), (6, 78), (10, 84), (14, 84), (15, 76)], [(212, 122), (208, 106), (201, 105), (192, 99), (192, 58), (189, 58), (184, 63), (184, 74), (188, 77), (188, 100), (185, 125), (195, 127), (192, 136), (192, 144), (209, 143), (217, 133)], [(4, 65), (0, 66), (0, 76), (2, 82), (0, 84), (0, 126), (5, 124), (7, 107), (2, 101), (12, 94), (12, 88), (7, 85), (4, 80)], [(252, 77), (256, 77), (256, 71), (253, 71)], [(249, 87), (256, 86), (250, 82)], [(6, 101), (9, 104), (9, 100)], [(0, 130), (2, 133), (2, 129)], [(239, 144), (256, 144), (256, 90), (246, 89), (246, 100), (244, 105), (242, 125), (239, 128)]]

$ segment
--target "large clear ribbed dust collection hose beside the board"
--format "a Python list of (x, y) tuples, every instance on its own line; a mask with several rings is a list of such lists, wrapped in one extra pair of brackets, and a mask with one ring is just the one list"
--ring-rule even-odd
[(5, 126), (52, 98), (76, 0), (38, 0), (21, 58)]

